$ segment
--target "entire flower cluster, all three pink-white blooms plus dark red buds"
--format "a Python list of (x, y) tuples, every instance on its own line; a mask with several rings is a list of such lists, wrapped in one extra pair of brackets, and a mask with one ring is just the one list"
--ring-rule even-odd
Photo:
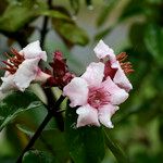
[(42, 71), (39, 61), (47, 61), (47, 53), (35, 41), (20, 52), (11, 49), (12, 54), (5, 53), (4, 77), (1, 77), (1, 92), (10, 90), (24, 91), (30, 83), (39, 82), (42, 86), (59, 87), (67, 96), (72, 108), (77, 108), (77, 127), (86, 125), (100, 126), (103, 124), (113, 128), (112, 115), (118, 105), (128, 98), (133, 89), (126, 74), (133, 72), (131, 64), (125, 62), (125, 52), (115, 55), (114, 51), (102, 40), (93, 49), (99, 62), (88, 65), (86, 72), (76, 77), (66, 65), (62, 52), (55, 51), (51, 68)]

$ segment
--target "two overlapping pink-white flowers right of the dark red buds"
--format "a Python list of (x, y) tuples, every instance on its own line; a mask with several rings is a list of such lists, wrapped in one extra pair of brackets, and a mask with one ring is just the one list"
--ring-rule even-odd
[(112, 115), (118, 104), (128, 98), (133, 88), (126, 74), (131, 73), (131, 64), (125, 62), (126, 53), (117, 57), (102, 40), (93, 49), (100, 59), (90, 63), (80, 77), (74, 77), (63, 89), (71, 100), (71, 106), (79, 106), (77, 127), (86, 125), (100, 126), (100, 123), (113, 128)]

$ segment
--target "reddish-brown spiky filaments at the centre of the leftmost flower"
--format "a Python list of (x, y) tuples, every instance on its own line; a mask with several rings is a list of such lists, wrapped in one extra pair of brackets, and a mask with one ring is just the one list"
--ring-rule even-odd
[(16, 49), (11, 49), (12, 55), (4, 53), (8, 58), (8, 61), (2, 61), (7, 66), (0, 67), (0, 70), (5, 70), (10, 72), (11, 74), (14, 74), (16, 70), (18, 68), (18, 65), (25, 60), (24, 57), (17, 52)]

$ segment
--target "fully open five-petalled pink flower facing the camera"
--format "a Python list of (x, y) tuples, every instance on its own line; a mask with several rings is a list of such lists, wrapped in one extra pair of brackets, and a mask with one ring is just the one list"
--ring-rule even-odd
[(104, 64), (90, 63), (80, 77), (74, 77), (63, 88), (63, 95), (71, 100), (71, 106), (79, 106), (77, 127), (86, 125), (100, 126), (100, 123), (113, 128), (111, 117), (118, 104), (128, 98), (128, 92), (120, 88), (108, 76), (104, 79)]

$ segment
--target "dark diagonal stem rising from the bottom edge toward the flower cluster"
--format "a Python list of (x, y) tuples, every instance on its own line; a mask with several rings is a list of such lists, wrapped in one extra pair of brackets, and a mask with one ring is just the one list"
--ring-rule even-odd
[[(61, 96), (59, 98), (59, 100), (54, 103), (53, 109), (54, 108), (59, 108), (59, 105), (62, 103), (62, 101), (65, 99), (65, 97)], [(53, 113), (53, 114), (51, 114)], [(49, 123), (49, 121), (52, 118), (52, 116), (57, 116), (60, 115), (60, 113), (58, 113), (55, 110), (51, 110), (47, 116), (45, 117), (45, 120), (42, 121), (42, 123), (40, 124), (40, 126), (38, 127), (38, 129), (36, 130), (36, 133), (34, 134), (34, 136), (32, 137), (32, 139), (29, 140), (28, 145), (25, 147), (25, 149), (23, 150), (23, 152), (21, 153), (21, 155), (18, 156), (16, 163), (22, 163), (22, 159), (23, 155), (26, 151), (28, 151), (35, 143), (35, 141), (38, 139), (38, 137), (40, 136), (41, 131), (43, 130), (43, 128), (47, 126), (47, 124)]]

